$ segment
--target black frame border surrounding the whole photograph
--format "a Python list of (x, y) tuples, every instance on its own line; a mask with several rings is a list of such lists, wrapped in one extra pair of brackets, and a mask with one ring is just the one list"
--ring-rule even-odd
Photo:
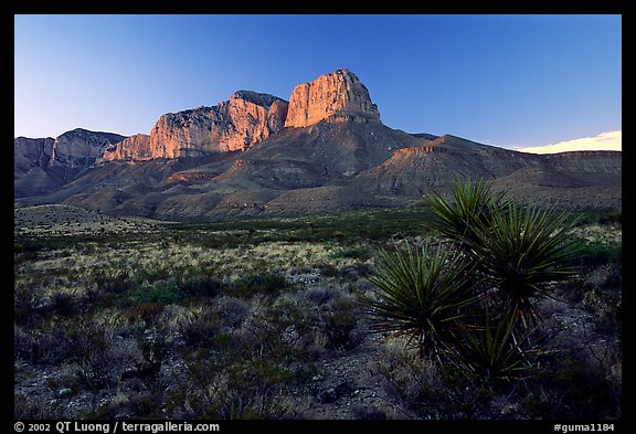
[[(85, 1), (67, 1), (67, 0), (13, 0), (11, 3), (2, 3), (2, 21), (0, 22), (0, 31), (2, 34), (2, 40), (6, 42), (8, 51), (13, 49), (13, 15), (14, 14), (59, 14), (59, 13), (89, 13), (89, 14), (621, 14), (623, 18), (623, 44), (624, 52), (628, 53), (628, 56), (623, 62), (623, 76), (627, 77), (624, 81), (626, 86), (624, 87), (623, 95), (627, 96), (623, 99), (623, 112), (627, 113), (628, 119), (630, 119), (634, 99), (636, 99), (636, 92), (634, 92), (633, 82), (636, 77), (633, 67), (632, 57), (636, 57), (636, 35), (634, 22), (634, 7), (636, 6), (635, 0), (604, 0), (604, 1), (591, 1), (591, 0), (411, 0), (411, 1), (391, 1), (390, 4), (380, 2), (354, 2), (352, 0), (346, 0), (342, 2), (320, 2), (314, 3), (307, 0), (296, 3), (288, 3), (278, 1), (261, 1), (258, 3), (244, 3), (237, 1), (214, 1), (214, 0), (188, 0), (188, 1), (176, 1), (176, 0), (85, 0)], [(11, 56), (11, 53), (6, 54), (7, 57)], [(13, 73), (14, 74), (14, 73)], [(9, 93), (9, 92), (7, 92)], [(11, 92), (13, 95), (13, 92)], [(9, 96), (7, 96), (9, 99)], [(7, 130), (13, 131), (12, 127), (7, 128)], [(628, 120), (623, 125), (623, 135), (625, 137), (624, 142), (627, 144), (624, 147), (623, 154), (627, 162), (630, 159), (632, 149), (634, 146), (634, 134), (632, 128), (632, 123)], [(11, 133), (12, 135), (13, 133)], [(9, 138), (7, 138), (9, 141)], [(7, 168), (7, 173), (10, 173), (9, 168)], [(627, 179), (628, 180), (628, 179)], [(629, 192), (624, 195), (623, 210), (627, 211), (627, 215), (630, 214), (630, 195)], [(627, 200), (625, 200), (627, 199)], [(627, 205), (627, 207), (626, 207)], [(10, 207), (8, 204), (7, 210)], [(11, 219), (11, 222), (13, 220)], [(625, 222), (625, 219), (624, 219)], [(11, 234), (7, 234), (8, 239), (13, 236), (13, 224), (6, 225), (7, 231), (11, 231)], [(625, 229), (625, 224), (623, 225)], [(629, 243), (633, 236), (629, 224), (627, 224), (627, 231), (624, 230), (624, 235), (627, 235), (627, 243), (623, 245), (633, 246)], [(628, 250), (624, 253), (629, 254)], [(629, 260), (628, 260), (629, 261)], [(10, 266), (10, 262), (6, 261), (7, 268)], [(628, 269), (628, 268), (626, 268)], [(10, 271), (7, 269), (7, 273)], [(630, 276), (623, 276), (624, 284), (624, 306), (634, 306), (634, 292), (633, 285), (630, 285)], [(4, 306), (12, 306), (12, 290), (4, 288), (7, 294), (7, 303)], [(11, 297), (11, 298), (9, 298)], [(12, 330), (12, 315), (3, 315), (6, 318), (6, 324), (3, 325), (3, 330), (7, 332), (6, 342), (13, 342), (13, 338), (9, 335)], [(630, 368), (634, 367), (634, 359), (632, 354), (632, 335), (630, 331), (634, 330), (633, 316), (624, 316), (624, 348), (623, 348), (623, 366), (626, 369), (623, 370), (623, 416), (618, 421), (218, 421), (221, 426), (221, 432), (232, 432), (242, 430), (276, 430), (276, 432), (294, 432), (297, 433), (298, 430), (303, 430), (311, 425), (311, 427), (317, 428), (337, 428), (337, 430), (363, 430), (371, 432), (384, 433), (392, 430), (426, 430), (431, 433), (443, 433), (443, 432), (457, 432), (457, 433), (468, 433), (471, 431), (481, 431), (488, 433), (549, 433), (554, 432), (554, 423), (562, 424), (583, 424), (583, 423), (608, 423), (614, 424), (614, 430), (611, 433), (621, 433), (625, 427), (632, 426), (635, 422), (634, 410), (636, 409), (636, 403), (634, 401), (632, 379), (633, 374)], [(625, 332), (627, 331), (627, 334)], [(9, 353), (9, 351), (7, 351)], [(7, 391), (12, 390), (12, 381), (9, 372), (13, 371), (12, 358), (7, 357), (7, 364), (3, 372), (3, 380), (7, 381), (4, 385)], [(7, 403), (8, 400), (4, 401)], [(12, 405), (6, 404), (4, 411), (8, 417), (4, 417), (4, 423), (1, 426), (7, 427), (7, 432), (14, 431), (14, 419)], [(26, 421), (24, 421), (26, 422)], [(39, 421), (45, 422), (45, 421)], [(50, 421), (57, 422), (57, 421)], [(105, 421), (95, 421), (105, 422)], [(145, 421), (145, 422), (165, 422), (165, 421)], [(174, 421), (178, 422), (178, 421)], [(194, 422), (194, 421), (192, 421)], [(110, 422), (110, 427), (113, 427), (113, 422)], [(54, 426), (54, 425), (53, 425)], [(52, 430), (53, 431), (53, 427)], [(636, 424), (634, 424), (636, 426)], [(110, 432), (113, 430), (110, 428)]]

